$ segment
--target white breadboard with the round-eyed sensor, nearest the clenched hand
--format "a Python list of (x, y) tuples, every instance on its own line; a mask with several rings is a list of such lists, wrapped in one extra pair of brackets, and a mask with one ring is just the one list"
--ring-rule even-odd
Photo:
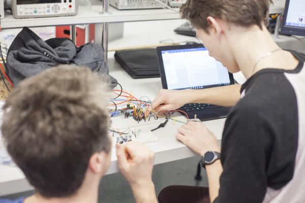
[[(112, 137), (112, 147), (115, 147), (117, 138), (120, 137), (117, 133), (110, 133), (111, 137)], [(123, 134), (122, 137), (126, 137), (126, 136), (131, 136), (131, 141), (138, 141), (141, 143), (153, 143), (153, 142), (157, 142), (158, 138), (155, 136), (155, 134), (151, 131), (146, 131), (146, 132), (142, 132), (142, 131), (137, 131), (136, 132), (136, 136), (132, 133), (130, 134)], [(124, 145), (125, 143), (123, 143)]]

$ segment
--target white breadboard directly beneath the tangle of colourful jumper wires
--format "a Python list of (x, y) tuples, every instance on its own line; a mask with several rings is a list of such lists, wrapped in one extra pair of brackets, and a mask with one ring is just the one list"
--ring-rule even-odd
[(132, 117), (129, 118), (122, 118), (122, 117), (114, 117), (111, 118), (111, 125), (110, 128), (111, 129), (116, 129), (116, 130), (120, 130), (120, 129), (126, 129), (126, 128), (134, 128), (134, 127), (139, 127), (139, 126), (143, 126), (143, 125), (149, 125), (149, 124), (154, 124), (154, 123), (160, 123), (160, 119), (155, 119), (153, 116), (150, 117), (149, 121), (148, 119), (146, 119), (146, 121), (142, 120), (142, 121), (136, 121), (135, 119), (133, 119)]

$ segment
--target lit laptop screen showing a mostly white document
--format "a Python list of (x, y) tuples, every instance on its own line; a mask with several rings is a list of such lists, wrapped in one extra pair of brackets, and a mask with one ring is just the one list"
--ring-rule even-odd
[(228, 70), (204, 47), (161, 51), (168, 89), (230, 85)]

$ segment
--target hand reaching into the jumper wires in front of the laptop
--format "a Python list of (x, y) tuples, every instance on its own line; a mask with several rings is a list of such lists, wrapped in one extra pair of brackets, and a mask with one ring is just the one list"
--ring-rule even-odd
[(151, 103), (149, 110), (159, 113), (162, 110), (176, 110), (188, 103), (188, 94), (186, 90), (161, 89)]

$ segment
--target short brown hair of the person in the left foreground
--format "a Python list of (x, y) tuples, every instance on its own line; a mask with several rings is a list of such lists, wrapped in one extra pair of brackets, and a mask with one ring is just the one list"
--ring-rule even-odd
[(109, 152), (109, 85), (86, 67), (62, 65), (25, 79), (3, 109), (9, 154), (38, 193), (69, 196), (90, 156)]

